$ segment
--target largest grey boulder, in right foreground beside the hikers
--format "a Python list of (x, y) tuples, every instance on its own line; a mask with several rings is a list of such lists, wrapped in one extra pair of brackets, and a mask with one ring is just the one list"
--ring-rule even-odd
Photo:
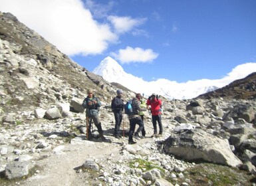
[(165, 142), (167, 153), (188, 161), (204, 160), (231, 167), (242, 164), (231, 151), (227, 140), (222, 140), (201, 129), (172, 134)]

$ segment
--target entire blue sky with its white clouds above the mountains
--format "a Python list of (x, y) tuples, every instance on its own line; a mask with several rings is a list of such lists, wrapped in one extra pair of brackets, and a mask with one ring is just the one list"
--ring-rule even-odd
[(146, 81), (219, 79), (256, 62), (255, 0), (0, 0), (92, 71), (106, 56)]

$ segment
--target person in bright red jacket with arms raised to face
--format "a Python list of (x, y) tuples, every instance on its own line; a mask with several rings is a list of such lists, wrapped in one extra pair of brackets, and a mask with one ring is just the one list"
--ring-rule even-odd
[(152, 137), (158, 136), (157, 134), (157, 127), (156, 122), (158, 122), (159, 126), (159, 136), (163, 134), (163, 126), (162, 126), (162, 117), (161, 117), (161, 106), (162, 101), (156, 96), (156, 94), (152, 94), (147, 100), (147, 106), (151, 107), (151, 114), (152, 114), (152, 123), (154, 127), (154, 135)]

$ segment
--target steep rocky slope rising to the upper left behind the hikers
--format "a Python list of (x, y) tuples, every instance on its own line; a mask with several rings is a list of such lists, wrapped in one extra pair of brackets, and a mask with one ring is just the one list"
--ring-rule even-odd
[(88, 88), (105, 102), (116, 94), (115, 86), (70, 60), (11, 13), (0, 12), (0, 51), (4, 113), (70, 102), (86, 96)]

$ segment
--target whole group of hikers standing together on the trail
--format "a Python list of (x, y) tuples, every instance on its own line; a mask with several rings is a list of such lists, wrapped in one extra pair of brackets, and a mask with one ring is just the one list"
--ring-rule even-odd
[[(99, 136), (102, 140), (106, 140), (103, 136), (103, 131), (100, 123), (100, 119), (98, 117), (98, 109), (101, 106), (100, 100), (94, 96), (91, 89), (87, 91), (88, 96), (84, 98), (82, 106), (86, 108), (86, 126), (87, 126), (87, 140), (91, 140), (93, 138), (91, 132), (91, 124), (92, 120), (98, 129)], [(123, 121), (124, 114), (124, 100), (122, 99), (122, 90), (116, 91), (116, 97), (112, 99), (111, 108), (114, 113), (115, 119), (115, 127), (114, 127), (114, 137), (117, 139), (122, 138), (122, 130), (120, 127)], [(146, 131), (144, 128), (144, 112), (148, 110), (152, 115), (152, 124), (154, 128), (154, 134), (152, 137), (162, 136), (163, 127), (162, 127), (162, 101), (158, 98), (158, 95), (152, 94), (145, 102), (142, 94), (137, 93), (134, 98), (131, 100), (132, 112), (128, 114), (128, 120), (130, 122), (130, 130), (129, 130), (129, 144), (135, 144), (136, 141), (133, 140), (133, 137), (136, 140), (140, 140), (141, 138), (146, 138)], [(159, 126), (159, 133), (157, 130), (157, 123)], [(138, 129), (135, 132), (136, 124), (138, 124)], [(124, 136), (124, 134), (123, 134)]]

